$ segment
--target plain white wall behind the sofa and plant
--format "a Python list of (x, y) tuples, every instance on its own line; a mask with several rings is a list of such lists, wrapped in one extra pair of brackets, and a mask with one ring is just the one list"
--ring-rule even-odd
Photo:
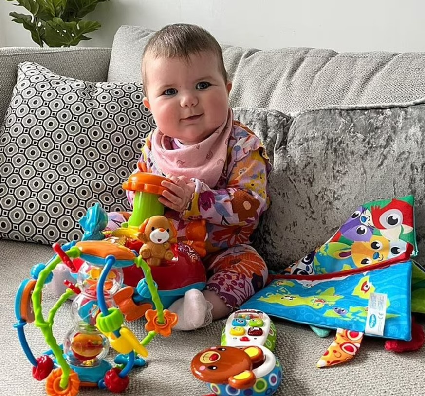
[[(12, 10), (25, 11), (0, 0), (0, 45), (36, 45), (11, 22)], [(110, 0), (89, 15), (102, 29), (80, 45), (110, 47), (120, 25), (189, 22), (221, 42), (262, 49), (425, 52), (424, 15), (423, 0)]]

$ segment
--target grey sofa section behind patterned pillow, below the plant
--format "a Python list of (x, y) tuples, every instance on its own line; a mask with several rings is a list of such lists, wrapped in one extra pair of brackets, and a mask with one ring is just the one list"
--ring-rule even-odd
[(0, 124), (16, 82), (20, 62), (37, 62), (52, 72), (86, 81), (106, 81), (109, 48), (0, 48)]

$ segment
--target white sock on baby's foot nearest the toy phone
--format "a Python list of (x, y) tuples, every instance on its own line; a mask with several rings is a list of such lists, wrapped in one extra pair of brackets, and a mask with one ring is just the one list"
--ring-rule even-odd
[(212, 322), (212, 304), (205, 300), (202, 291), (190, 289), (184, 297), (168, 308), (179, 316), (173, 330), (195, 330)]

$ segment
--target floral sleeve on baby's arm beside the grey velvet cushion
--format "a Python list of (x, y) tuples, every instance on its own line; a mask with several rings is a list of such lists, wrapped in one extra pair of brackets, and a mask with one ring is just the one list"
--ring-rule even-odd
[(203, 218), (209, 223), (223, 226), (257, 223), (267, 209), (267, 176), (271, 165), (259, 139), (245, 139), (233, 147), (231, 170), (227, 186), (212, 190), (205, 183), (195, 180), (195, 193), (183, 220)]

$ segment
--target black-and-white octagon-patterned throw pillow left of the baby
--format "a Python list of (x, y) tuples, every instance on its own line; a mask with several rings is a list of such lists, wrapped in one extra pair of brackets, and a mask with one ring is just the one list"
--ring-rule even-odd
[(19, 64), (0, 129), (1, 238), (70, 241), (95, 202), (128, 210), (121, 184), (155, 126), (142, 99), (141, 83), (91, 83)]

